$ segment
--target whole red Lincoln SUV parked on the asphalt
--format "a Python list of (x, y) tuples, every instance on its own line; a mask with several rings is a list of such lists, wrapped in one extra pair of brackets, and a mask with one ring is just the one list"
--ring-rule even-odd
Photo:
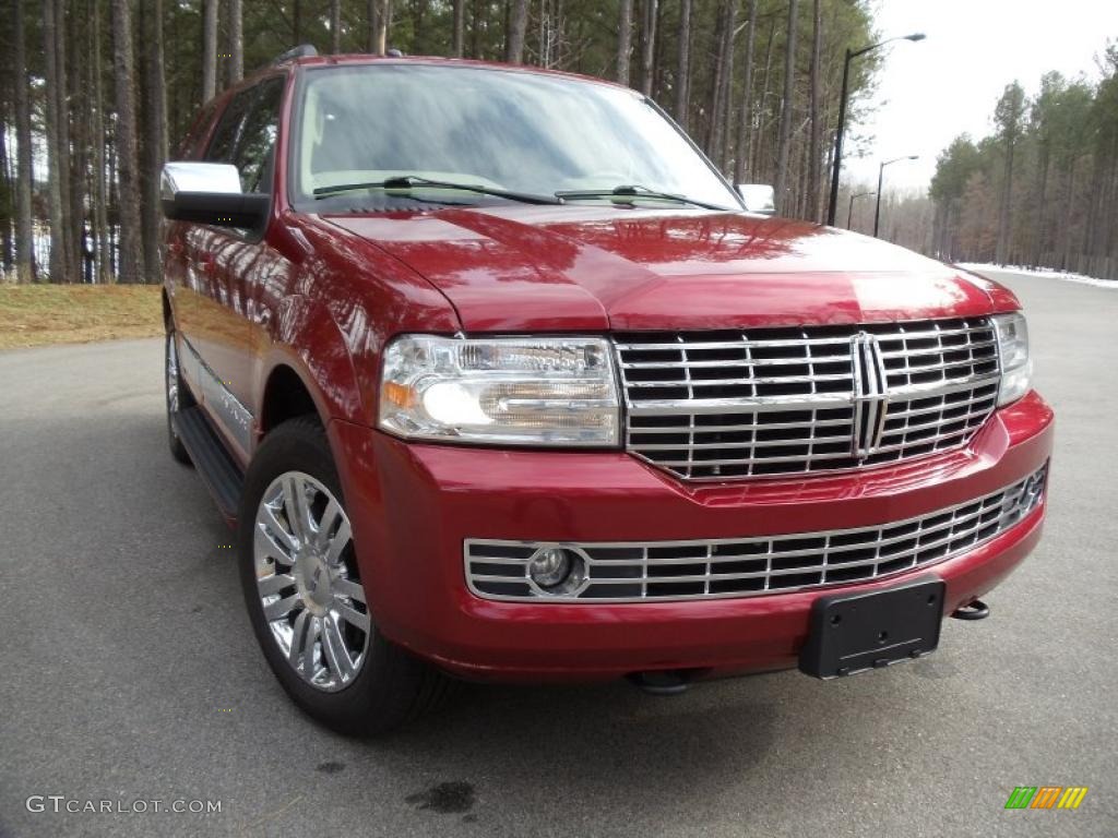
[(1012, 293), (750, 211), (624, 87), (309, 53), (163, 179), (171, 450), (303, 708), (832, 677), (985, 615), (1053, 436)]

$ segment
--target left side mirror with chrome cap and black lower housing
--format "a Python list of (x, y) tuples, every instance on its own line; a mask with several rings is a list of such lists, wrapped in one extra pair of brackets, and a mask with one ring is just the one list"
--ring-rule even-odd
[(172, 221), (262, 230), (271, 196), (240, 191), (240, 173), (229, 163), (164, 163), (160, 179), (163, 215)]

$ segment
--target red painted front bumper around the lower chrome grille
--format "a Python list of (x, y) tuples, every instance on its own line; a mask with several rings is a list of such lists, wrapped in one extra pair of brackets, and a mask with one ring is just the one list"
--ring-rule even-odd
[(984, 594), (1040, 539), (1044, 503), (977, 549), (880, 581), (741, 599), (506, 602), (466, 585), (467, 539), (745, 539), (869, 527), (989, 495), (1051, 455), (1035, 393), (964, 450), (861, 473), (689, 486), (620, 453), (408, 445), (333, 421), (330, 438), (370, 608), (383, 634), (444, 668), (499, 680), (589, 680), (646, 669), (709, 675), (795, 666), (812, 603), (935, 572), (945, 610)]

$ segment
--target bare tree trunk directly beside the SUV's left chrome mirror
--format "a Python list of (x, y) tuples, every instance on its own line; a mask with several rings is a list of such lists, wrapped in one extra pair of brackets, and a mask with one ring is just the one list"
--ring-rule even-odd
[[(230, 11), (233, 9), (230, 8)], [(143, 126), (143, 265), (146, 282), (162, 274), (159, 180), (167, 160), (167, 85), (163, 78), (163, 0), (145, 0)]]

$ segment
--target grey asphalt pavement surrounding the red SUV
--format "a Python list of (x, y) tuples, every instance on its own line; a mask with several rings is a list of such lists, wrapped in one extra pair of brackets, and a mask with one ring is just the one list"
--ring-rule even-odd
[[(1044, 541), (991, 619), (843, 682), (472, 686), (373, 743), (266, 668), (229, 533), (167, 453), (160, 341), (0, 353), (0, 834), (1118, 834), (1118, 291), (1007, 279), (1059, 441)], [(1018, 784), (1090, 791), (1005, 811)]]

